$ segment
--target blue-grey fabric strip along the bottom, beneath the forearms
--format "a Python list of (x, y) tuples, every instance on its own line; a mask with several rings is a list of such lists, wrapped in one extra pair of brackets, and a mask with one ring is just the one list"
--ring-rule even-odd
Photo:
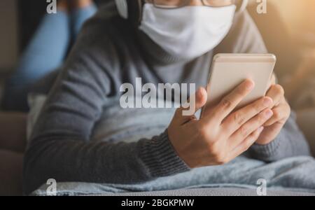
[[(255, 190), (258, 188), (259, 179), (265, 179), (267, 182), (267, 193), (284, 190), (315, 195), (315, 160), (309, 157), (297, 157), (266, 164), (239, 157), (228, 165), (194, 169), (183, 174), (132, 185), (57, 183), (57, 195), (111, 195), (193, 188)], [(43, 185), (33, 195), (45, 195), (46, 189), (47, 186)]]

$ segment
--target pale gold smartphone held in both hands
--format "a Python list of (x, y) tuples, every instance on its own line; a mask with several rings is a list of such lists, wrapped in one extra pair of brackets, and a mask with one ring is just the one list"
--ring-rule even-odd
[(246, 78), (253, 80), (255, 88), (237, 106), (237, 109), (264, 97), (275, 64), (276, 56), (272, 54), (218, 54), (214, 56), (206, 88), (208, 101), (202, 113), (207, 107), (218, 104)]

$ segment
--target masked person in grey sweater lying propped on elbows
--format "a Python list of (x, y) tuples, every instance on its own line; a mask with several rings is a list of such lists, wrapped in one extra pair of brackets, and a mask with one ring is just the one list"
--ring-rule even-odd
[[(104, 7), (86, 25), (50, 91), (25, 155), (26, 194), (48, 179), (119, 186), (169, 179), (191, 169), (214, 175), (216, 166), (226, 169), (225, 163), (239, 160), (248, 149), (247, 163), (309, 155), (283, 88), (276, 84), (267, 97), (233, 112), (253, 89), (247, 80), (200, 120), (183, 116), (183, 109), (175, 114), (165, 109), (174, 116), (171, 124), (156, 110), (121, 109), (121, 85), (137, 87), (142, 78), (153, 85), (195, 83), (201, 87), (193, 106), (197, 111), (207, 102), (202, 86), (216, 52), (266, 52), (253, 21), (235, 1), (122, 2)], [(158, 120), (162, 126), (156, 128)], [(209, 182), (221, 178), (224, 183), (233, 179), (226, 174)]]

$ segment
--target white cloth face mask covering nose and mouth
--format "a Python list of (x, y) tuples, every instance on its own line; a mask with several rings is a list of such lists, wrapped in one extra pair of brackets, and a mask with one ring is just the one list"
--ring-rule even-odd
[(170, 55), (194, 59), (213, 50), (228, 34), (236, 6), (185, 6), (172, 10), (144, 5), (139, 29)]

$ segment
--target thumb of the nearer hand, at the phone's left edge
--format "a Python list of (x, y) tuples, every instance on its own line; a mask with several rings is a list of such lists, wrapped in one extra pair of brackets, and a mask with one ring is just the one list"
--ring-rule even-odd
[[(191, 101), (190, 99), (193, 99)], [(175, 116), (174, 116), (174, 123), (179, 125), (183, 125), (187, 123), (189, 120), (195, 118), (195, 113), (200, 110), (206, 103), (207, 103), (207, 91), (204, 87), (200, 87), (195, 94), (193, 94), (190, 99), (188, 100), (188, 104), (190, 105), (188, 108), (184, 108), (181, 106), (179, 109), (176, 109)], [(190, 104), (192, 102), (192, 104)], [(185, 111), (191, 111), (190, 115), (184, 114)]]

